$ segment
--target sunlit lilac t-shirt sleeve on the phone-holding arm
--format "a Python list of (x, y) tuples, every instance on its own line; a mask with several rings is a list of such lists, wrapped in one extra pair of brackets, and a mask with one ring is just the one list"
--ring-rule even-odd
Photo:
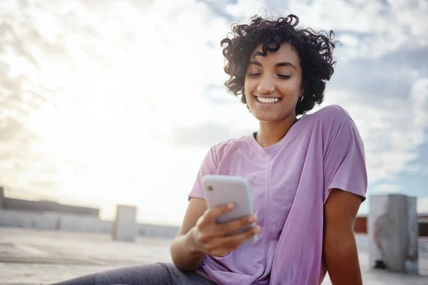
[(205, 199), (205, 192), (203, 191), (202, 177), (205, 175), (215, 175), (217, 173), (217, 154), (215, 153), (215, 146), (210, 147), (210, 150), (205, 155), (205, 158), (200, 165), (198, 175), (193, 183), (192, 191), (188, 195), (188, 199), (195, 197)]

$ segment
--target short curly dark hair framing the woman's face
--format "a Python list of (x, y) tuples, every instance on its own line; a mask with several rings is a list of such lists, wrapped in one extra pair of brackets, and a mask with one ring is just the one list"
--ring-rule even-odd
[(334, 68), (332, 53), (335, 33), (311, 28), (297, 28), (299, 18), (293, 14), (278, 19), (263, 19), (261, 16), (250, 18), (250, 24), (233, 24), (232, 32), (220, 42), (225, 56), (225, 73), (230, 78), (225, 81), (228, 93), (241, 95), (241, 101), (247, 103), (244, 94), (245, 73), (250, 56), (258, 45), (262, 45), (260, 56), (275, 52), (281, 43), (290, 43), (298, 53), (302, 68), (302, 86), (305, 88), (302, 102), (296, 105), (296, 115), (302, 115), (314, 108), (315, 103), (324, 99), (325, 81), (330, 80)]

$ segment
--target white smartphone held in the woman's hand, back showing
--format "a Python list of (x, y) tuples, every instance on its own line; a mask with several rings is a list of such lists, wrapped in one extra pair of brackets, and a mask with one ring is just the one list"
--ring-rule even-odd
[[(228, 176), (228, 175), (205, 175), (202, 178), (202, 184), (206, 193), (206, 202), (208, 208), (219, 206), (220, 204), (235, 203), (235, 209), (232, 212), (222, 214), (216, 222), (223, 224), (233, 221), (241, 217), (254, 214), (253, 201), (250, 195), (250, 184), (244, 177)], [(238, 229), (230, 233), (239, 234), (245, 232), (255, 223)], [(257, 234), (248, 239), (249, 242), (257, 241)]]

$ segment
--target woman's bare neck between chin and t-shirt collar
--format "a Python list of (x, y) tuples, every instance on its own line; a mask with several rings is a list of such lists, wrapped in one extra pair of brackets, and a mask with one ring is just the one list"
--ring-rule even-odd
[(270, 147), (282, 140), (287, 135), (288, 131), (297, 122), (297, 118), (290, 117), (280, 122), (260, 122), (258, 133), (255, 135), (255, 140), (263, 147)]

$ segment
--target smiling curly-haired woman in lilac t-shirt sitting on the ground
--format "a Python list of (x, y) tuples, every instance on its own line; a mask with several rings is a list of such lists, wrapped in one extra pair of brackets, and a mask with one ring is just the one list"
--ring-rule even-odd
[[(258, 132), (221, 142), (203, 160), (173, 264), (101, 272), (61, 284), (362, 284), (353, 224), (367, 190), (364, 147), (337, 105), (311, 115), (333, 73), (333, 33), (297, 28), (297, 16), (253, 17), (224, 46), (226, 81), (259, 120)], [(302, 115), (302, 116), (300, 116)], [(300, 118), (298, 118), (300, 117)], [(233, 205), (208, 210), (204, 175), (250, 182), (255, 215), (215, 224)], [(228, 233), (256, 222), (242, 234)], [(251, 244), (245, 239), (258, 234)]]

